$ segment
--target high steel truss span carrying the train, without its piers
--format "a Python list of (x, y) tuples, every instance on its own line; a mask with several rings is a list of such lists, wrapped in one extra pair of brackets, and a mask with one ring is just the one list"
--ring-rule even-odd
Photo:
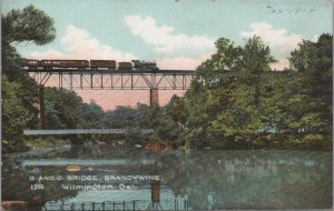
[(186, 90), (194, 70), (23, 69), (39, 84), (89, 90)]

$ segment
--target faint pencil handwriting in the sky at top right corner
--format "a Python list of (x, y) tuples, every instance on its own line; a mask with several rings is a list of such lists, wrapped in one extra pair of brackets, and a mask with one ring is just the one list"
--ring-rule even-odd
[(267, 14), (312, 14), (316, 12), (316, 9), (314, 7), (294, 7), (288, 9), (278, 8), (276, 4), (267, 4), (266, 6)]

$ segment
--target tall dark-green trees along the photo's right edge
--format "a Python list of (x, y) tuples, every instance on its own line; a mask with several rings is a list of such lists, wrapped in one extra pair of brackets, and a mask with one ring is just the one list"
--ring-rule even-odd
[(322, 34), (316, 42), (303, 40), (289, 58), (298, 77), (292, 93), (288, 128), (301, 133), (313, 149), (331, 149), (333, 125), (333, 36)]

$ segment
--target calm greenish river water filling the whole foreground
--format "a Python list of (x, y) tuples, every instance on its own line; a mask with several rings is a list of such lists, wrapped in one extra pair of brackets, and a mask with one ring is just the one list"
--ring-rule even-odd
[[(43, 159), (43, 164), (38, 163)], [(82, 169), (69, 172), (66, 167)], [(89, 160), (99, 160), (95, 164)], [(121, 161), (121, 162), (120, 162)], [(140, 161), (140, 162), (138, 162)], [(148, 161), (148, 162), (143, 162)], [(85, 164), (86, 162), (86, 164)], [(134, 164), (135, 163), (135, 164)], [(24, 168), (23, 168), (24, 167)], [(35, 172), (33, 172), (35, 171)], [(29, 204), (49, 201), (150, 200), (150, 183), (127, 181), (134, 190), (63, 190), (61, 184), (119, 184), (115, 181), (29, 181), (31, 175), (159, 175), (161, 200), (187, 199), (193, 210), (332, 207), (332, 153), (310, 151), (169, 151), (90, 145), (39, 158), (4, 159), (2, 200)], [(43, 183), (43, 190), (31, 184)]]

